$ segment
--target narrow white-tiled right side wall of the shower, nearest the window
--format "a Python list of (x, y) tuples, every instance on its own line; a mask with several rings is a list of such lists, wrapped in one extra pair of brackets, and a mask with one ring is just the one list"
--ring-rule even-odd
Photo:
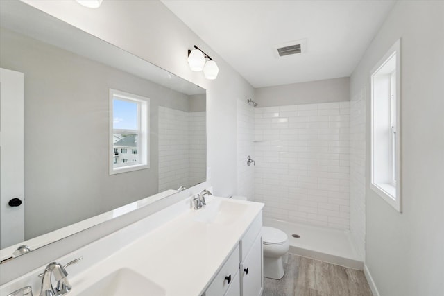
[(350, 232), (364, 260), (366, 243), (366, 89), (350, 101)]

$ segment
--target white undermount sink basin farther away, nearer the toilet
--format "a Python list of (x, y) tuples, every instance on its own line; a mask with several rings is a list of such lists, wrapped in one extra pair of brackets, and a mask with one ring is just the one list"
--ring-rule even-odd
[(230, 200), (212, 200), (196, 211), (194, 220), (202, 223), (230, 225), (246, 212), (248, 206)]

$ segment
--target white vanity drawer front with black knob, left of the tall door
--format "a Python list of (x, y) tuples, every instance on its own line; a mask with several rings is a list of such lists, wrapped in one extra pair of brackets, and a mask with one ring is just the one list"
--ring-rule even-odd
[[(214, 277), (212, 283), (205, 291), (205, 296), (221, 296), (225, 293), (234, 281), (239, 281), (237, 272), (239, 271), (239, 245), (230, 254), (227, 261), (223, 264), (221, 270)], [(230, 277), (230, 283), (225, 277)]]

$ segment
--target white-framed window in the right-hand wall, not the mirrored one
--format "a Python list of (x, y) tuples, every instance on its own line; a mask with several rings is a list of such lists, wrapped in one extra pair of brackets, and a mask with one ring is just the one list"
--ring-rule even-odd
[(400, 40), (371, 71), (372, 188), (401, 212)]

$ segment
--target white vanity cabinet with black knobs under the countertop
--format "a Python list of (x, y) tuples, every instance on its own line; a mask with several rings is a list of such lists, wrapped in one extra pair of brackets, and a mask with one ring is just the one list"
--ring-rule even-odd
[[(260, 296), (262, 294), (262, 213), (214, 277), (204, 296)], [(228, 281), (230, 279), (230, 281)]]

